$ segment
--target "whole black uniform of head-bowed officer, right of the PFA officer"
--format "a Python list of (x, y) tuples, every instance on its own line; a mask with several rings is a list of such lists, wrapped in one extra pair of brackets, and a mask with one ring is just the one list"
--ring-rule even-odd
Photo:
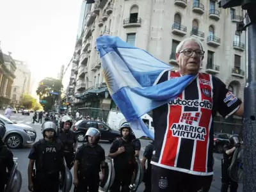
[(98, 192), (100, 164), (105, 161), (104, 148), (85, 143), (78, 148), (75, 160), (79, 161), (77, 192)]

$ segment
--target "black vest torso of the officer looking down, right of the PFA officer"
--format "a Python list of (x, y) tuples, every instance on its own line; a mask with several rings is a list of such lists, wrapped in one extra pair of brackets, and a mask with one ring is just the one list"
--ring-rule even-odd
[(81, 162), (79, 163), (79, 172), (100, 172), (100, 148), (99, 145), (95, 145), (95, 147), (90, 147), (88, 144), (83, 144), (83, 157)]

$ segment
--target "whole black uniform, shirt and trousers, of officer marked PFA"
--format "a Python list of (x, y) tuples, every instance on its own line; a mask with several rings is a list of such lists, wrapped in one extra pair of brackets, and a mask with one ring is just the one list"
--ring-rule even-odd
[(60, 172), (65, 170), (63, 164), (64, 148), (59, 140), (37, 141), (31, 148), (29, 159), (35, 160), (36, 176), (33, 180), (36, 192), (58, 192)]

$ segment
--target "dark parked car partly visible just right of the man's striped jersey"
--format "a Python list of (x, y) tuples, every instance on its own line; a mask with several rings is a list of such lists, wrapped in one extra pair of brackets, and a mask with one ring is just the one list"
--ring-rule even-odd
[(231, 134), (228, 133), (214, 133), (213, 149), (218, 153), (223, 152), (223, 146), (228, 144)]

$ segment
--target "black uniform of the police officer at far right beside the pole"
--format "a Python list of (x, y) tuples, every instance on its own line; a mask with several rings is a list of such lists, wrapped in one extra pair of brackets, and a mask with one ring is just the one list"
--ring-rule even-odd
[(232, 162), (232, 158), (234, 156), (234, 152), (230, 154), (229, 156), (226, 154), (226, 151), (233, 148), (234, 146), (231, 144), (224, 145), (223, 147), (223, 165), (222, 165), (222, 185), (221, 185), (221, 192), (227, 192), (228, 191), (228, 186), (230, 187), (230, 192), (236, 192), (238, 188), (237, 182), (234, 180), (230, 179), (228, 175), (228, 168)]

